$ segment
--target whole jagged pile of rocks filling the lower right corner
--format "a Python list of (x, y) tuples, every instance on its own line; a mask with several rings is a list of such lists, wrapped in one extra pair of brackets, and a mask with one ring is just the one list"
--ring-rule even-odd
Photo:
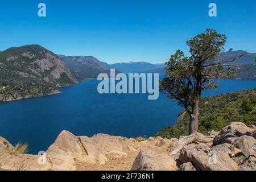
[(213, 146), (189, 144), (181, 150), (178, 160), (203, 171), (255, 171), (256, 140), (251, 137), (254, 132), (243, 123), (233, 122), (221, 130)]

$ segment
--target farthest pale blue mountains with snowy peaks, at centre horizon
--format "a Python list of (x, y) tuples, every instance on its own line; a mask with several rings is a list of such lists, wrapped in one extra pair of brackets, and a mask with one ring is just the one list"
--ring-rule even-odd
[(151, 64), (147, 62), (115, 63), (110, 68), (118, 69), (123, 73), (144, 72), (150, 69), (164, 68), (164, 64)]

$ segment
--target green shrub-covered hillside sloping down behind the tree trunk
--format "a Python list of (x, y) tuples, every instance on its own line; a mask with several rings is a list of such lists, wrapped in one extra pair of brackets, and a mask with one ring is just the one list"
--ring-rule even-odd
[[(247, 126), (256, 122), (256, 88), (237, 93), (200, 100), (199, 132), (220, 131), (231, 122), (242, 122)], [(183, 112), (175, 126), (168, 126), (157, 136), (163, 138), (179, 138), (188, 134), (189, 118)]]

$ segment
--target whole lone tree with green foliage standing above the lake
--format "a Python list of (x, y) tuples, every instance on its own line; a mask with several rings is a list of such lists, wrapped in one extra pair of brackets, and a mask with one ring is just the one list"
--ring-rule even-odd
[[(160, 86), (168, 92), (168, 97), (175, 99), (183, 106), (190, 117), (189, 134), (197, 131), (198, 104), (204, 90), (218, 87), (216, 78), (234, 76), (234, 69), (225, 66), (242, 55), (228, 59), (220, 59), (223, 55), (226, 36), (216, 30), (207, 29), (187, 41), (190, 57), (177, 50), (166, 63), (166, 76), (160, 81)], [(231, 52), (230, 49), (229, 52)], [(228, 53), (229, 53), (228, 52)]]

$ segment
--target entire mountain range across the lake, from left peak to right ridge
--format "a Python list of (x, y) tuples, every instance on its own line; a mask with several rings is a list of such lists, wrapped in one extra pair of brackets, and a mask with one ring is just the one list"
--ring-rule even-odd
[[(235, 56), (242, 51), (233, 51)], [(234, 61), (238, 78), (256, 79), (255, 53)], [(64, 56), (39, 45), (13, 47), (0, 51), (0, 102), (59, 93), (59, 86), (74, 85), (100, 73), (164, 73), (164, 64), (137, 61), (107, 64), (93, 56)]]

